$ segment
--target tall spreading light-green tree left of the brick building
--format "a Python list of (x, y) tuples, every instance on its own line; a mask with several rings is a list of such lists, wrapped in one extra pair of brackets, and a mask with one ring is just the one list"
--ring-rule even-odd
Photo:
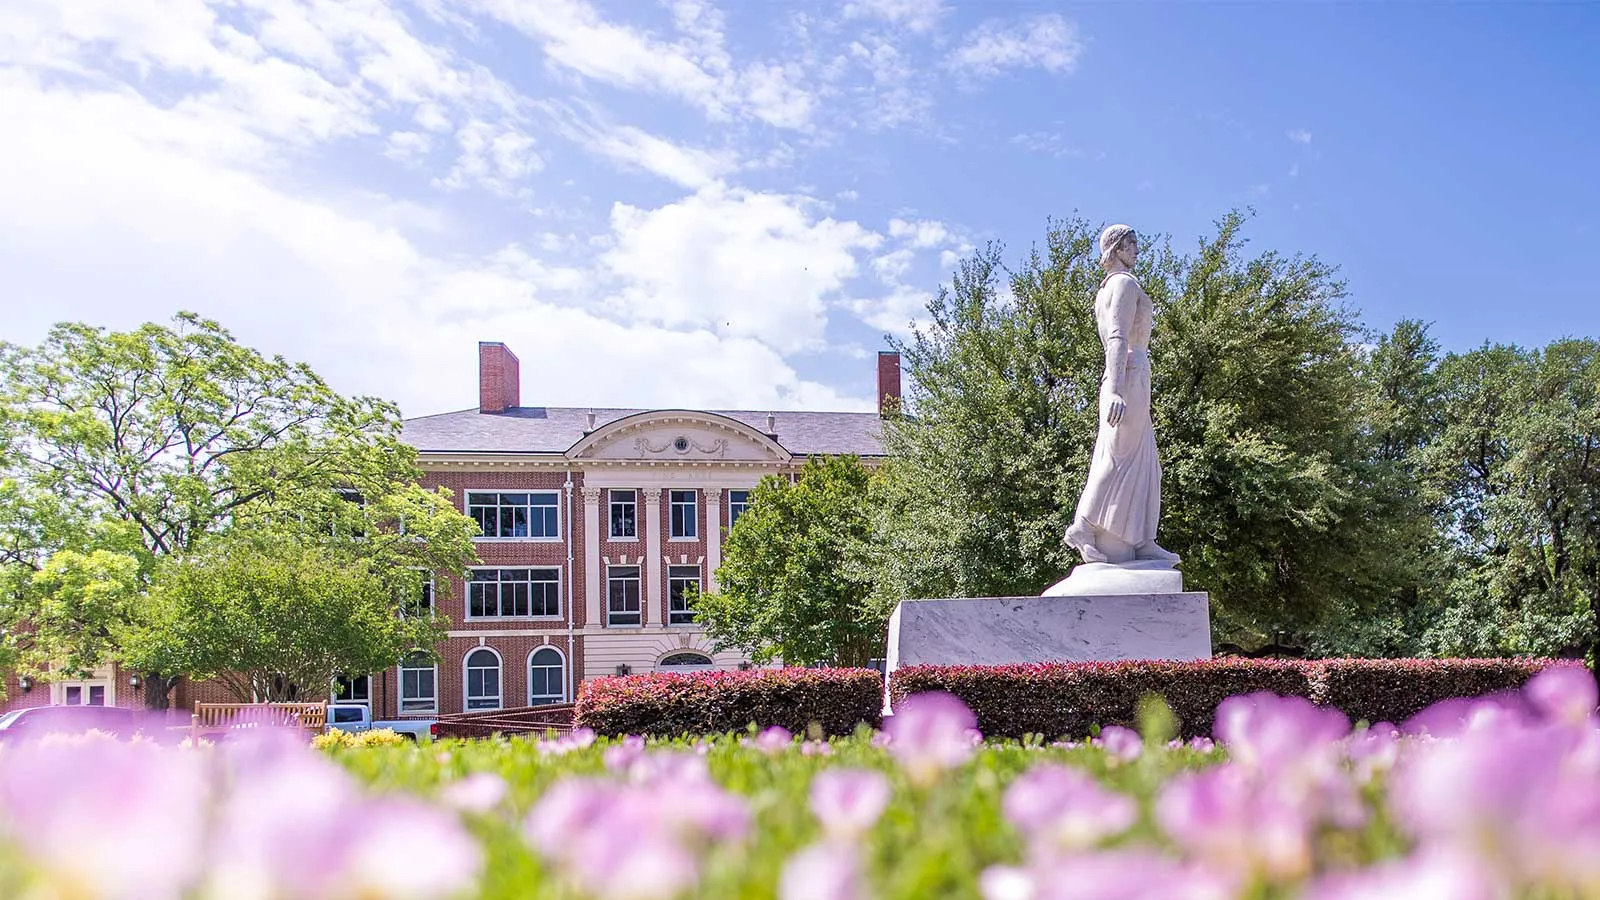
[[(176, 591), (176, 565), (226, 570), (251, 533), (342, 543), (330, 549), (342, 559), (352, 541), (402, 528), (386, 562), (459, 572), (472, 559), (470, 522), (416, 488), (394, 405), (344, 397), (194, 314), (0, 344), (0, 410), (10, 645), (32, 668), (138, 665), (152, 708), (178, 677), (213, 671), (125, 644), (160, 621), (155, 588)], [(235, 543), (213, 548), (224, 538)], [(230, 583), (248, 580), (230, 572)]]

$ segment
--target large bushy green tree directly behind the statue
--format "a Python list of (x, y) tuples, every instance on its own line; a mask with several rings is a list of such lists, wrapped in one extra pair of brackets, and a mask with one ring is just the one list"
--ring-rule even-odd
[[(1403, 573), (1344, 283), (1315, 258), (1246, 256), (1243, 223), (1187, 256), (1146, 242), (1138, 275), (1157, 306), (1163, 546), (1211, 593), (1218, 637), (1251, 644), (1378, 602)], [(912, 415), (888, 428), (874, 530), (885, 602), (1037, 594), (1077, 562), (1061, 535), (1096, 429), (1098, 232), (1056, 223), (1014, 272), (979, 251), (901, 346)]]

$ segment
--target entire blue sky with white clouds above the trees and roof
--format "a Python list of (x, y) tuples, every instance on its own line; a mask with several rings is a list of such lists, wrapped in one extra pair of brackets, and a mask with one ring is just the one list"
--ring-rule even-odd
[(1450, 349), (1600, 335), (1600, 6), (11, 0), (0, 340), (197, 309), (408, 415), (867, 408), (1048, 216), (1341, 267)]

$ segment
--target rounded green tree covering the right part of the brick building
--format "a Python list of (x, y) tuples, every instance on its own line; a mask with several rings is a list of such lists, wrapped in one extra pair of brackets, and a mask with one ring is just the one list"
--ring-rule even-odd
[(859, 565), (870, 480), (858, 456), (811, 458), (794, 484), (762, 479), (728, 533), (718, 591), (696, 599), (717, 649), (846, 666), (882, 652), (888, 613)]

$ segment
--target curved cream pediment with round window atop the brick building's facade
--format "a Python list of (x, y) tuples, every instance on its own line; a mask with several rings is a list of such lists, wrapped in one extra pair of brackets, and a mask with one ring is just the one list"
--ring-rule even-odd
[(654, 463), (787, 463), (790, 453), (742, 421), (691, 410), (656, 410), (606, 423), (566, 455)]

